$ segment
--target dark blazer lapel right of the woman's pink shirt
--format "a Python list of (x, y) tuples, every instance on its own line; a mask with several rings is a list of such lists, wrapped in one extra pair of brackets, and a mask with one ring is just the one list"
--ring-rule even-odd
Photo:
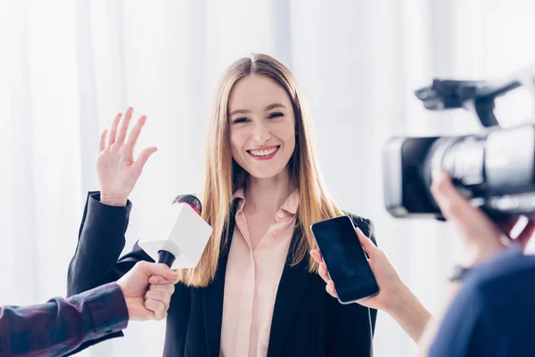
[[(297, 243), (299, 236), (300, 228), (295, 228), (291, 247)], [(289, 257), (291, 253), (292, 248), (288, 253)], [(309, 260), (307, 257), (294, 267), (290, 266), (289, 259), (284, 265), (283, 275), (276, 293), (273, 319), (271, 320), (268, 357), (275, 357), (280, 354), (286, 335), (292, 328), (293, 316), (309, 281), (308, 267)]]

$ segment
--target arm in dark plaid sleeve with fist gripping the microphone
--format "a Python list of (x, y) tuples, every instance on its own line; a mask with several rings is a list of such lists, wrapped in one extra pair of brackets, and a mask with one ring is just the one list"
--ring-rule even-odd
[[(151, 277), (161, 279), (161, 297), (145, 295)], [(142, 262), (117, 283), (68, 299), (0, 307), (0, 356), (64, 355), (88, 340), (127, 328), (128, 320), (161, 320), (175, 278), (177, 273), (163, 264)]]

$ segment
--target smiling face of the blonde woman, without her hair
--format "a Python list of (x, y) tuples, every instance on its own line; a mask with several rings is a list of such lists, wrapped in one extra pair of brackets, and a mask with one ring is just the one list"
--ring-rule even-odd
[(265, 76), (240, 79), (228, 100), (232, 157), (257, 179), (286, 170), (295, 150), (295, 116), (283, 87)]

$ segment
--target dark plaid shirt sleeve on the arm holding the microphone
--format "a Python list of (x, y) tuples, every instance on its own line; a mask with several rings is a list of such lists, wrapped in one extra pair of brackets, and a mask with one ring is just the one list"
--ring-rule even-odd
[(63, 355), (127, 325), (127, 305), (116, 283), (66, 300), (0, 307), (0, 357)]

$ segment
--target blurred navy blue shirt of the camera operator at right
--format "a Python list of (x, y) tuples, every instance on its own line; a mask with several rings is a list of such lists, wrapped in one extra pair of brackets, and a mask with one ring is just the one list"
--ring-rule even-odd
[(535, 256), (514, 245), (466, 276), (430, 356), (535, 356)]

